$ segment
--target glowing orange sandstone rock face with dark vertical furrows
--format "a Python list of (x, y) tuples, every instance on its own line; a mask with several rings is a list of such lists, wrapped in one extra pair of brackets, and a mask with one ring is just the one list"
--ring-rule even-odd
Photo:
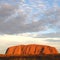
[(9, 47), (6, 51), (6, 55), (13, 56), (28, 56), (28, 55), (45, 55), (45, 54), (58, 54), (54, 47), (45, 45), (19, 45)]

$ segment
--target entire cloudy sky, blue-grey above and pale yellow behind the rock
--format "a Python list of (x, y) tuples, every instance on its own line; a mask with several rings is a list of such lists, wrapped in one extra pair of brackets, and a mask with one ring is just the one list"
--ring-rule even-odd
[(21, 44), (60, 52), (60, 0), (0, 0), (0, 53)]

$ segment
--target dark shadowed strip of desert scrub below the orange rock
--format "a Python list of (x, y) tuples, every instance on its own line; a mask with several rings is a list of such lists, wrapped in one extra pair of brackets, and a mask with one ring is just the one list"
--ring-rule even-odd
[(60, 60), (60, 54), (40, 56), (0, 56), (0, 60)]

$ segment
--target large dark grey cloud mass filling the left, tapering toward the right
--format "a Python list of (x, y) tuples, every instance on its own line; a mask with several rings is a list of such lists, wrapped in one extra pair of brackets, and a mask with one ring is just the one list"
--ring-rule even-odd
[[(9, 4), (2, 5), (0, 10), (0, 32), (3, 34), (17, 34), (24, 32), (36, 32), (40, 30), (45, 30), (44, 25), (38, 22), (32, 22), (30, 24), (26, 24), (26, 19), (28, 14), (24, 14), (23, 12), (18, 12), (18, 15), (8, 19), (12, 14), (14, 14), (14, 10), (16, 8)], [(4, 21), (8, 19), (7, 22)]]

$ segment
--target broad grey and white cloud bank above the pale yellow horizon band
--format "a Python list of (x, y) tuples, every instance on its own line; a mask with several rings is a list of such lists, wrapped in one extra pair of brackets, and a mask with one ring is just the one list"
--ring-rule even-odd
[[(60, 8), (51, 7), (41, 13), (41, 7), (47, 2), (31, 0), (27, 3), (19, 3), (18, 6), (11, 3), (3, 3), (0, 9), (0, 33), (20, 34), (27, 32), (47, 31), (48, 29), (60, 30)], [(16, 2), (16, 1), (15, 1)], [(36, 5), (38, 4), (38, 5)], [(36, 5), (35, 8), (33, 6)], [(47, 6), (46, 6), (47, 7)], [(34, 9), (37, 9), (34, 10)], [(42, 9), (43, 10), (43, 9)], [(33, 12), (36, 11), (36, 12)]]

